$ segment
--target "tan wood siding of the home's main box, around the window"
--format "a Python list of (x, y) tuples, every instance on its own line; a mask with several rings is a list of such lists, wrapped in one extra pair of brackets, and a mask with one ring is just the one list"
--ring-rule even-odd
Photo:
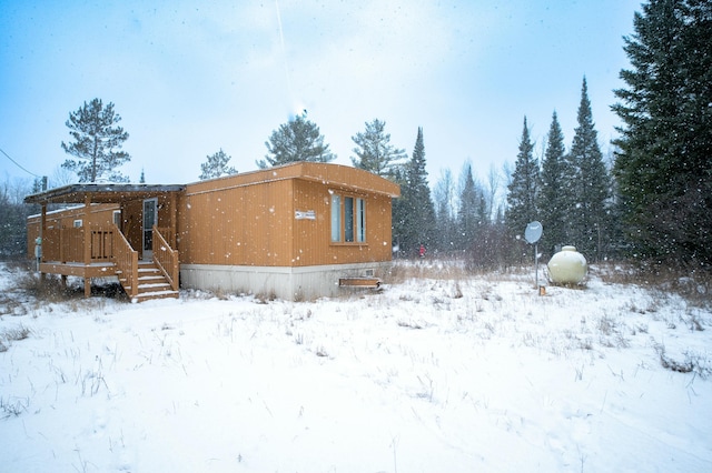
[[(384, 181), (353, 168), (318, 164), (189, 184), (178, 203), (181, 263), (308, 266), (389, 261), (390, 194), (398, 188)], [(333, 193), (364, 199), (365, 242), (332, 243)], [(314, 219), (297, 219), (296, 212)]]

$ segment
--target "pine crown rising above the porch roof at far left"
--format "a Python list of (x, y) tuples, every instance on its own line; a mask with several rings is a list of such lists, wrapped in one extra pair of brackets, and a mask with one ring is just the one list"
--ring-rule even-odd
[(115, 127), (121, 117), (113, 111), (113, 103), (106, 107), (100, 99), (85, 102), (76, 112), (69, 113), (66, 124), (75, 140), (62, 141), (65, 152), (76, 159), (68, 159), (62, 168), (77, 173), (79, 182), (96, 182), (106, 178), (115, 182), (128, 182), (118, 168), (130, 161), (126, 151), (120, 151), (129, 133), (121, 127)]

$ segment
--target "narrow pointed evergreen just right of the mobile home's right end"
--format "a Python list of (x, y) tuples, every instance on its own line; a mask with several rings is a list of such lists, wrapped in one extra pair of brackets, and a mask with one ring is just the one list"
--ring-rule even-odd
[(414, 254), (421, 244), (429, 248), (434, 241), (435, 210), (425, 164), (423, 129), (418, 128), (413, 157), (403, 173), (395, 174), (400, 179), (400, 199), (394, 205), (394, 235), (406, 254)]

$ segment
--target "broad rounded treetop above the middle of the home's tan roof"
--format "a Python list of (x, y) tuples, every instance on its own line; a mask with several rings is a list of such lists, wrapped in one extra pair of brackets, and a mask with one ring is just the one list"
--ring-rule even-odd
[(279, 125), (265, 142), (268, 153), (257, 161), (260, 169), (298, 161), (329, 162), (336, 158), (324, 144), (324, 137), (306, 113)]

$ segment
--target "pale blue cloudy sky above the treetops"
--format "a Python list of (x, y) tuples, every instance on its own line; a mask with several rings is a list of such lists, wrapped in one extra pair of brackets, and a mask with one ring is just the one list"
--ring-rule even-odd
[[(466, 160), (484, 181), (514, 163), (524, 115), (537, 154), (554, 110), (571, 144), (585, 76), (607, 154), (640, 3), (0, 0), (0, 149), (51, 180), (69, 112), (100, 98), (130, 134), (121, 171), (185, 183), (220, 148), (256, 169), (271, 131), (306, 109), (337, 163), (378, 118), (408, 154), (423, 127), (433, 183)], [(0, 178), (31, 175), (0, 155)]]

